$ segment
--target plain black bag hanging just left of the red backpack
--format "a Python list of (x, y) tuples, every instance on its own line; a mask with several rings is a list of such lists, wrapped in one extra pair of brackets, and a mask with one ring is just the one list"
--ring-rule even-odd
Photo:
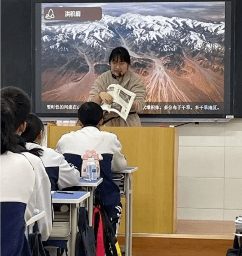
[(76, 240), (76, 256), (96, 256), (94, 228), (89, 226), (88, 215), (85, 207), (79, 208), (79, 232)]

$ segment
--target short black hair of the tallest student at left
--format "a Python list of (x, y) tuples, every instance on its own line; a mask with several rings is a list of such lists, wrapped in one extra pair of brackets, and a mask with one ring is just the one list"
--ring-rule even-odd
[[(27, 120), (31, 111), (31, 99), (21, 88), (8, 86), (1, 89), (1, 97), (10, 105), (13, 112), (15, 131)], [(14, 103), (14, 104), (12, 104)]]

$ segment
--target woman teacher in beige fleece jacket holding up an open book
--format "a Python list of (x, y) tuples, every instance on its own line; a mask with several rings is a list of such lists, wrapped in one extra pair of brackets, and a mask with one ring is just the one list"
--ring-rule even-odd
[(141, 77), (129, 70), (131, 58), (128, 51), (123, 47), (113, 49), (109, 56), (110, 70), (101, 74), (92, 85), (88, 101), (101, 104), (111, 104), (113, 97), (107, 93), (107, 87), (111, 84), (119, 84), (125, 89), (136, 94), (131, 111), (125, 121), (114, 112), (104, 114), (106, 126), (141, 126), (138, 112), (145, 105), (146, 90)]

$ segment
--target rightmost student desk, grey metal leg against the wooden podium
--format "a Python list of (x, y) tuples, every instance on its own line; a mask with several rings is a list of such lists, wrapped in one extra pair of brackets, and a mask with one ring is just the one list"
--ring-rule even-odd
[(125, 193), (122, 197), (126, 200), (125, 211), (125, 256), (132, 255), (132, 221), (133, 221), (133, 173), (138, 167), (126, 167), (123, 171), (125, 179)]

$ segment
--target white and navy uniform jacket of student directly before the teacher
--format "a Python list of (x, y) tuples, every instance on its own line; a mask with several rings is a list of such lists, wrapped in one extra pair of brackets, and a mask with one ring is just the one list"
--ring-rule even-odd
[(62, 135), (56, 151), (62, 153), (69, 163), (73, 163), (81, 173), (81, 156), (87, 150), (95, 150), (103, 156), (100, 163), (100, 177), (103, 182), (98, 186), (105, 200), (110, 216), (116, 216), (116, 206), (120, 206), (119, 188), (113, 182), (112, 171), (122, 171), (126, 159), (121, 153), (122, 145), (114, 133), (100, 131), (96, 126), (85, 126), (81, 130)]

